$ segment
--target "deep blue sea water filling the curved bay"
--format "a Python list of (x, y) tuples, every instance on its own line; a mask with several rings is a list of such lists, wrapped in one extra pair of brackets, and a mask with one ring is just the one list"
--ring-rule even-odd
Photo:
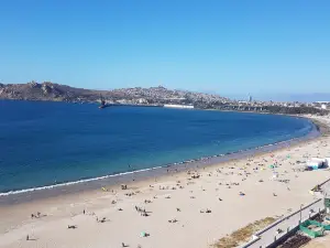
[(251, 149), (311, 129), (287, 116), (0, 101), (0, 192)]

